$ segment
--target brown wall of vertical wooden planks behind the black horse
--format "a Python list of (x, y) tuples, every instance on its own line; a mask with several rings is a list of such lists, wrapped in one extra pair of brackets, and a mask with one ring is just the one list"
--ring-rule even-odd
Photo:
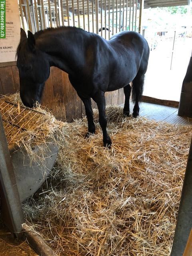
[[(0, 94), (12, 94), (19, 90), (19, 72), (16, 62), (0, 63)], [(123, 89), (106, 92), (107, 105), (120, 105), (124, 102)], [(52, 67), (46, 81), (42, 105), (63, 121), (72, 122), (85, 112), (84, 105), (70, 84), (68, 74)], [(96, 108), (92, 100), (92, 108)]]

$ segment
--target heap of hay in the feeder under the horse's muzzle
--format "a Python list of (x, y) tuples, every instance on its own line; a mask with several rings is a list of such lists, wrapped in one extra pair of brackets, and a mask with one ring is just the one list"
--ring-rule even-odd
[[(50, 112), (40, 106), (36, 109), (24, 107), (19, 93), (0, 98), (0, 114), (8, 147), (14, 150), (19, 148), (31, 161), (44, 164), (44, 152), (48, 143), (57, 143), (56, 136), (60, 136), (64, 123), (56, 120)], [(34, 146), (40, 149), (38, 155)]]

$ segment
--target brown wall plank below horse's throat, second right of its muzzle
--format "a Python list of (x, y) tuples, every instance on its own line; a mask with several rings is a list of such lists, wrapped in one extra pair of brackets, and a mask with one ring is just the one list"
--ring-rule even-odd
[(54, 90), (54, 101), (56, 117), (59, 120), (66, 121), (65, 108), (65, 90), (63, 86), (62, 70), (56, 67), (51, 67), (52, 84)]

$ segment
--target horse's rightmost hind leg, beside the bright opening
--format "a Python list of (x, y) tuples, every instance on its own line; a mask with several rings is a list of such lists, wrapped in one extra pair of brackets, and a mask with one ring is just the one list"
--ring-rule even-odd
[(139, 101), (143, 93), (144, 73), (138, 72), (132, 82), (132, 100), (134, 102), (133, 117), (139, 115)]

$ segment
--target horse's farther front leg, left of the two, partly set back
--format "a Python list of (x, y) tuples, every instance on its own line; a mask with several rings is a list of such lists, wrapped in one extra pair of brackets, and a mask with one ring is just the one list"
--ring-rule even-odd
[(85, 137), (88, 138), (90, 136), (90, 134), (95, 133), (95, 124), (93, 121), (93, 111), (92, 111), (92, 107), (91, 107), (91, 99), (90, 98), (82, 98), (82, 97), (80, 97), (80, 98), (85, 106), (85, 112), (86, 112), (87, 121), (88, 121), (88, 133), (85, 135)]

